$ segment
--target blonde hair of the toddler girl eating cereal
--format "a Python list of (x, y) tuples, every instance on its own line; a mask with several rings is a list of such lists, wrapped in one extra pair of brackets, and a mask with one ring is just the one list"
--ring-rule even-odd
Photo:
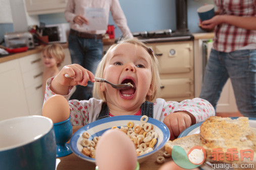
[[(151, 48), (148, 48), (143, 42), (141, 42), (140, 40), (138, 40), (137, 38), (124, 38), (120, 41), (118, 41), (116, 44), (112, 45), (109, 50), (107, 51), (107, 53), (104, 55), (104, 57), (101, 59), (101, 61), (99, 62), (97, 69), (96, 69), (96, 73), (95, 73), (95, 77), (103, 77), (103, 72), (107, 63), (107, 60), (110, 57), (110, 51), (116, 47), (118, 44), (123, 44), (123, 43), (130, 43), (130, 44), (134, 44), (134, 45), (138, 45), (143, 47), (148, 54), (151, 56), (152, 59), (152, 64), (151, 64), (151, 72), (152, 72), (152, 81), (151, 81), (151, 87), (153, 90), (153, 94), (151, 96), (146, 96), (146, 101), (149, 102), (154, 102), (160, 92), (160, 86), (161, 86), (161, 82), (160, 82), (160, 76), (159, 76), (159, 65), (158, 65), (158, 59), (157, 57), (153, 54), (153, 51)], [(105, 92), (101, 92), (100, 91), (100, 82), (95, 82), (94, 86), (93, 86), (93, 97), (96, 99), (101, 99), (103, 101), (106, 102), (106, 94)]]

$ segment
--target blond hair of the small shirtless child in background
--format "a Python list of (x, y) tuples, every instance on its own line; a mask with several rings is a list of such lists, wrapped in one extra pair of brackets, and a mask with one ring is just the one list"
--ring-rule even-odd
[(61, 63), (64, 61), (65, 54), (64, 54), (64, 49), (61, 44), (46, 45), (42, 52), (45, 52), (46, 55), (55, 57), (57, 62), (59, 62), (57, 64), (57, 67), (61, 66)]

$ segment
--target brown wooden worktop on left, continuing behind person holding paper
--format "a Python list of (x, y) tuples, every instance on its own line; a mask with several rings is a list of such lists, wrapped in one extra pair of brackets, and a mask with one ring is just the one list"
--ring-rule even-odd
[[(104, 39), (103, 40), (103, 45), (112, 45), (114, 43), (115, 43), (115, 39)], [(63, 46), (63, 48), (68, 48), (68, 43), (64, 43), (61, 45)], [(41, 52), (43, 50), (43, 47), (44, 47), (44, 45), (40, 45), (40, 46), (36, 46), (34, 49), (30, 49), (25, 52), (11, 53), (11, 54), (5, 55), (5, 56), (0, 55), (0, 63)]]

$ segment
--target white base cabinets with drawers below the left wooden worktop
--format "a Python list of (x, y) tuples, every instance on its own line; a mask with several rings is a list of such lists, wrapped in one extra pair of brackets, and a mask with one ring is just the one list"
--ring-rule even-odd
[[(60, 69), (71, 64), (68, 48), (64, 52), (65, 60)], [(45, 86), (42, 84), (43, 71), (41, 52), (0, 63), (0, 120), (42, 114), (42, 86)]]

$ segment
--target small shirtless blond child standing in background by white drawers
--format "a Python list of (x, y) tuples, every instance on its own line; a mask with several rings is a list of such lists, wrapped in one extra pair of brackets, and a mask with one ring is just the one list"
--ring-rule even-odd
[(59, 66), (64, 61), (65, 54), (64, 49), (60, 44), (50, 44), (44, 47), (43, 51), (43, 63), (45, 69), (43, 72), (43, 86), (42, 93), (45, 93), (46, 80), (50, 77), (57, 75), (60, 70)]

